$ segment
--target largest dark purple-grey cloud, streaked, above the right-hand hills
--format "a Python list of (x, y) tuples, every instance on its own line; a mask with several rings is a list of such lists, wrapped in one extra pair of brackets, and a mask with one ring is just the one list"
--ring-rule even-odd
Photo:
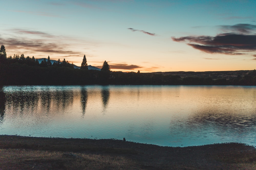
[(206, 53), (241, 55), (256, 51), (256, 35), (226, 33), (212, 36), (185, 36), (175, 38), (176, 42), (189, 42), (188, 45)]

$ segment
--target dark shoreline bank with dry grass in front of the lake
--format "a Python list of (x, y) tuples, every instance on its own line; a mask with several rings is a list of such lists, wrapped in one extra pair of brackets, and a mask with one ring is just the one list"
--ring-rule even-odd
[(161, 147), (113, 139), (0, 135), (0, 169), (255, 169), (241, 143)]

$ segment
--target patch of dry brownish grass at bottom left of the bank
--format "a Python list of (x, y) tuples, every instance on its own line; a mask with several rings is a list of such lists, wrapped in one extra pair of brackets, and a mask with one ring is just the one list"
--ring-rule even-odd
[(0, 149), (1, 169), (129, 169), (133, 162), (122, 156), (38, 151), (25, 149)]

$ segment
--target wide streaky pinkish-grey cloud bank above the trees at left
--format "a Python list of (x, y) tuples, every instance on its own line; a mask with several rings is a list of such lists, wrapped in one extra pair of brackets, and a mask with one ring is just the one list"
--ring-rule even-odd
[[(77, 38), (52, 35), (47, 32), (30, 30), (30, 29), (11, 29), (15, 35), (2, 37), (0, 42), (5, 45), (11, 53), (30, 53), (32, 55), (57, 55), (57, 56), (83, 56), (84, 52), (74, 50), (71, 42), (80, 41)], [(68, 43), (64, 43), (67, 42)], [(84, 41), (81, 43), (85, 44)], [(91, 44), (90, 44), (91, 45)], [(38, 53), (40, 52), (40, 53)]]

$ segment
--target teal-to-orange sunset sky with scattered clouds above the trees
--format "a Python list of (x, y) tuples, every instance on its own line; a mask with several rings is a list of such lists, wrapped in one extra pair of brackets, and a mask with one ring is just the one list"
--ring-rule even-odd
[(0, 0), (0, 45), (111, 71), (256, 68), (256, 1)]

